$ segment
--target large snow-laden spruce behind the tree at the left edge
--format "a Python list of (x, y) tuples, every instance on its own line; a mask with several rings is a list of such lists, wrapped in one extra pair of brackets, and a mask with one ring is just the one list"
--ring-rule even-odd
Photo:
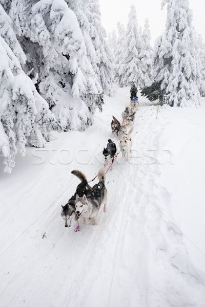
[(10, 16), (40, 95), (64, 129), (85, 129), (101, 89), (75, 13), (64, 0), (12, 0)]

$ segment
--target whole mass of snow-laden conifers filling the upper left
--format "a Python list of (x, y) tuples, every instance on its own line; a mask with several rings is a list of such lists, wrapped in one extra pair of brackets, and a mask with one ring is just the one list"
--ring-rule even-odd
[(89, 9), (85, 0), (0, 3), (1, 48), (8, 59), (8, 69), (0, 71), (1, 95), (9, 97), (1, 99), (0, 151), (11, 171), (16, 143), (24, 154), (25, 145), (44, 146), (53, 128), (81, 130), (92, 123), (96, 106), (104, 103), (103, 91), (112, 94), (112, 64), (105, 30), (99, 31), (97, 1), (90, 1)]

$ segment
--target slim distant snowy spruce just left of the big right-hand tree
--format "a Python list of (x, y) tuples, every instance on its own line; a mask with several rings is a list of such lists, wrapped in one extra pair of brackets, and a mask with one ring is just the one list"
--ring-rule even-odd
[(143, 75), (142, 86), (149, 86), (152, 84), (152, 64), (153, 64), (153, 48), (151, 47), (151, 34), (148, 19), (145, 19), (145, 28), (142, 33), (142, 48), (139, 54), (139, 67)]

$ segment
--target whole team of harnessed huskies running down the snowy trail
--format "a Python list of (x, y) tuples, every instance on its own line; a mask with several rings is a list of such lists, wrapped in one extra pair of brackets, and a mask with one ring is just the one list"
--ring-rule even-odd
[[(132, 148), (131, 134), (134, 130), (134, 116), (138, 108), (138, 101), (134, 97), (131, 100), (131, 106), (126, 106), (124, 112), (122, 112), (122, 124), (113, 116), (111, 122), (112, 135), (119, 136), (119, 147), (122, 153), (122, 158), (127, 156), (127, 161), (130, 159), (130, 152)], [(127, 127), (132, 125), (127, 132)], [(114, 156), (116, 155), (117, 148), (115, 143), (109, 139), (107, 147), (103, 150), (105, 161), (107, 158), (112, 160), (110, 169), (112, 169)], [(87, 178), (84, 173), (79, 170), (73, 170), (71, 172), (81, 182), (78, 184), (75, 194), (69, 199), (65, 206), (61, 206), (61, 216), (65, 220), (65, 227), (70, 227), (71, 222), (75, 221), (75, 232), (79, 231), (79, 222), (84, 224), (98, 225), (98, 212), (101, 204), (104, 204), (104, 212), (106, 212), (107, 206), (107, 188), (105, 186), (105, 167), (100, 168), (98, 171), (98, 184), (91, 187), (88, 184)]]

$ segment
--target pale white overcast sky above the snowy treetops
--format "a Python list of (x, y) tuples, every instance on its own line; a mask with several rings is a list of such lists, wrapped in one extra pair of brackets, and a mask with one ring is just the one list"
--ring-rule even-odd
[[(99, 0), (101, 23), (109, 32), (117, 29), (118, 21), (127, 26), (130, 5), (135, 5), (138, 25), (144, 27), (145, 18), (149, 19), (152, 44), (165, 30), (167, 8), (161, 11), (161, 0)], [(205, 42), (205, 0), (190, 0), (193, 11), (193, 26)]]

